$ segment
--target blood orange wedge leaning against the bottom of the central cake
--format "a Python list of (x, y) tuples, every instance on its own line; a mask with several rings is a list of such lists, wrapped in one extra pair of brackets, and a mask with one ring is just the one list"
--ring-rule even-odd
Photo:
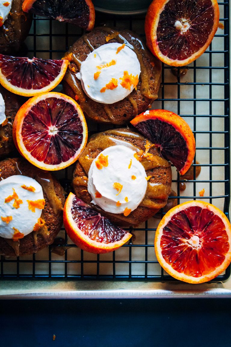
[(90, 253), (115, 251), (132, 237), (72, 193), (64, 205), (63, 223), (75, 245)]

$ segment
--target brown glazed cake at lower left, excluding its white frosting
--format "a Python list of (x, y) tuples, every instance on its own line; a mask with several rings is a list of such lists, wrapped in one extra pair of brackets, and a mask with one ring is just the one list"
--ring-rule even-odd
[(40, 170), (21, 158), (2, 160), (0, 162), (0, 174), (3, 179), (13, 175), (34, 178), (42, 186), (45, 200), (41, 215), (45, 221), (45, 226), (30, 232), (17, 241), (0, 237), (0, 254), (6, 257), (23, 256), (36, 253), (53, 243), (63, 223), (62, 210), (65, 198), (60, 183), (49, 172)]

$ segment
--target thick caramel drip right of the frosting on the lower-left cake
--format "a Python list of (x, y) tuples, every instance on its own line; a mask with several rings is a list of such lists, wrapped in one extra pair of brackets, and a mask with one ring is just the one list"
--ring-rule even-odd
[(46, 177), (45, 175), (43, 176), (43, 174), (41, 173), (37, 175), (35, 179), (39, 184), (41, 184), (43, 188), (43, 192), (46, 194), (47, 199), (52, 209), (54, 210), (54, 213), (57, 214), (63, 210), (62, 202), (55, 193), (54, 181), (52, 177), (51, 176), (50, 178), (47, 178), (47, 177), (49, 177), (48, 173), (46, 173)]

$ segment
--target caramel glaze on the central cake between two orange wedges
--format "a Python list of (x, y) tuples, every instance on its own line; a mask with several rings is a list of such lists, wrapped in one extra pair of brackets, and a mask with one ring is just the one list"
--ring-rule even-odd
[[(119, 136), (116, 138), (115, 136)], [(131, 139), (131, 142), (128, 142)], [(92, 161), (96, 158), (96, 156), (106, 149), (109, 146), (115, 146), (118, 144), (130, 147), (136, 152), (140, 150), (139, 147), (132, 144), (132, 140), (139, 140), (139, 142), (146, 144), (146, 139), (137, 133), (134, 133), (129, 128), (126, 129), (112, 129), (107, 130), (104, 133), (100, 133), (91, 136), (89, 143), (85, 147), (85, 150), (79, 156), (79, 163), (82, 166), (83, 170), (88, 176), (88, 171), (90, 169)], [(152, 170), (157, 167), (170, 167), (170, 163), (161, 158), (158, 154), (158, 149), (152, 147), (154, 160), (147, 160), (146, 158), (142, 158), (140, 161), (145, 170)], [(94, 157), (92, 156), (94, 153)], [(140, 206), (148, 207), (150, 209), (156, 209), (165, 206), (166, 201), (168, 199), (168, 195), (171, 191), (171, 188), (168, 185), (154, 183), (152, 182), (154, 179), (150, 178), (148, 181), (148, 186), (146, 189), (145, 196), (143, 201), (140, 203)], [(87, 187), (87, 177), (75, 177), (73, 180), (73, 184), (76, 186), (84, 186)], [(94, 206), (95, 207), (95, 206)], [(127, 218), (126, 218), (127, 220)]]

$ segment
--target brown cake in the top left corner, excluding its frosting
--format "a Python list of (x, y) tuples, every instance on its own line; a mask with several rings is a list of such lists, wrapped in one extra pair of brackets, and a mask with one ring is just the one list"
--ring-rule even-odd
[(17, 52), (30, 31), (33, 15), (22, 10), (23, 1), (12, 1), (10, 13), (0, 26), (0, 52), (3, 54)]

